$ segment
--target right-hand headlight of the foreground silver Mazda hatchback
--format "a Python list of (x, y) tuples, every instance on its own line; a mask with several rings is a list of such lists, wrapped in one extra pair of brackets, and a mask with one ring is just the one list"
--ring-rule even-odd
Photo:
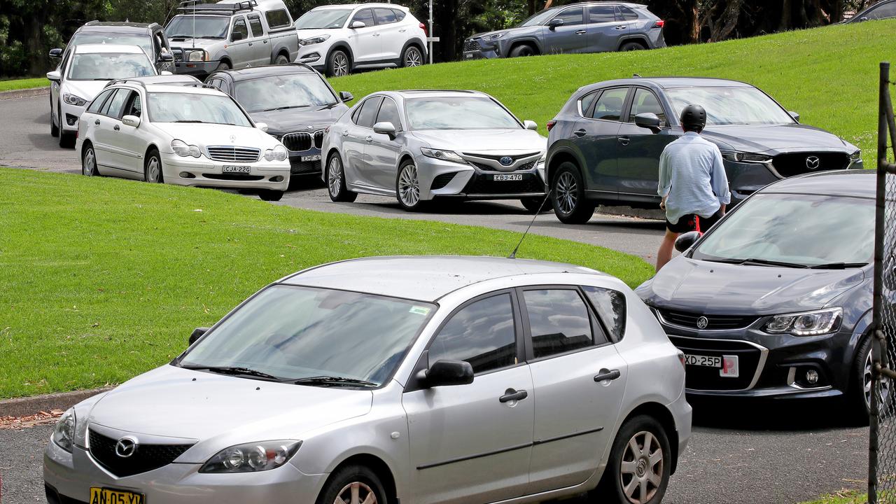
[(302, 441), (280, 440), (246, 443), (224, 448), (212, 456), (200, 473), (255, 473), (284, 465), (296, 455)]

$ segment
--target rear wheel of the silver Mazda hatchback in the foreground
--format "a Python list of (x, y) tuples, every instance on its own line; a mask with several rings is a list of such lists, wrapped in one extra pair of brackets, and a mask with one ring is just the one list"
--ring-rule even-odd
[(659, 504), (668, 487), (671, 455), (666, 430), (659, 421), (647, 415), (633, 417), (616, 434), (607, 468), (590, 500)]

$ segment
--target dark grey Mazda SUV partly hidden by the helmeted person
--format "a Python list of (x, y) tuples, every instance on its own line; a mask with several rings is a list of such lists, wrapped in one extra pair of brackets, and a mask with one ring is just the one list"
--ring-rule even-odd
[(597, 204), (659, 208), (659, 154), (684, 135), (678, 116), (707, 111), (702, 135), (719, 145), (732, 204), (780, 178), (862, 168), (861, 152), (799, 124), (747, 83), (691, 77), (632, 78), (584, 86), (547, 122), (547, 181), (557, 218), (588, 222)]

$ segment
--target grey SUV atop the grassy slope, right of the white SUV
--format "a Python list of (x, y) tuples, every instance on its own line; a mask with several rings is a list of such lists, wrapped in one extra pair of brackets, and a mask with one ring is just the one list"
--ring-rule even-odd
[(663, 20), (645, 5), (592, 2), (537, 13), (508, 30), (473, 35), (464, 59), (665, 48)]

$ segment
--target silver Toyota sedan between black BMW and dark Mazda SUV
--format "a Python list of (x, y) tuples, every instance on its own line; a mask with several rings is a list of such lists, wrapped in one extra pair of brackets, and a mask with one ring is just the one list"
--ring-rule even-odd
[(394, 196), (410, 211), (435, 198), (545, 199), (547, 138), (479, 91), (383, 91), (342, 115), (323, 137), (333, 201)]

